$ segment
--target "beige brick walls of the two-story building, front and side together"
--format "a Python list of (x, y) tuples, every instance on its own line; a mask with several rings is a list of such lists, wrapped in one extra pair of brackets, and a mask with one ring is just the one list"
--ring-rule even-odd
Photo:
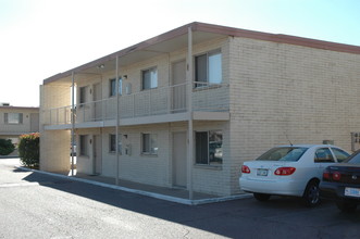
[[(359, 55), (233, 37), (194, 46), (194, 55), (214, 49), (222, 51), (223, 83), (228, 83), (229, 87), (213, 89), (213, 96), (218, 92), (223, 98), (210, 104), (229, 104), (231, 121), (194, 123), (194, 130), (223, 131), (223, 165), (218, 168), (195, 165), (194, 190), (216, 194), (237, 193), (241, 162), (253, 160), (273, 146), (287, 144), (287, 137), (293, 143), (334, 140), (335, 144), (350, 150), (350, 133), (359, 131), (360, 123), (360, 109), (356, 106), (360, 97)], [(186, 53), (186, 49), (179, 49), (121, 67), (120, 75), (127, 75), (123, 81), (121, 102), (125, 99), (127, 84), (132, 85), (132, 93), (141, 90), (142, 70), (157, 66), (158, 86), (169, 86), (171, 63), (185, 59)], [(114, 72), (78, 77), (77, 90), (89, 86), (88, 99), (92, 101), (94, 85), (101, 83), (102, 99), (107, 99), (109, 79), (114, 77)], [(64, 104), (64, 101), (60, 104), (70, 105), (69, 93), (69, 87), (50, 87), (44, 98), (46, 101), (42, 101), (45, 108), (57, 106), (54, 102), (62, 97), (69, 98), (69, 104)], [(204, 91), (195, 93), (200, 99), (207, 99), (200, 101), (200, 106), (211, 101)], [(114, 101), (111, 105), (103, 112), (114, 115)], [(89, 135), (89, 139), (92, 135), (102, 137), (102, 175), (110, 177), (116, 174), (116, 156), (109, 152), (109, 134), (114, 131), (114, 127), (76, 131), (77, 135)], [(120, 131), (127, 135), (127, 139), (122, 138), (123, 148), (126, 144), (132, 148), (131, 155), (120, 156), (120, 177), (172, 186), (172, 133), (187, 131), (187, 123), (121, 127)], [(141, 155), (141, 133), (158, 134), (158, 155)], [(52, 133), (51, 137), (58, 137), (57, 133)], [(91, 156), (92, 151), (88, 158), (78, 156), (77, 168), (80, 172), (92, 173)]]

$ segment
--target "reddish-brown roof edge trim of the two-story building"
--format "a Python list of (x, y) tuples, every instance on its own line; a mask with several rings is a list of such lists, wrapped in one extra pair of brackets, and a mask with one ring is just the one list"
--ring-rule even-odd
[(156, 36), (153, 38), (150, 38), (148, 40), (141, 41), (137, 45), (131, 46), (128, 48), (125, 48), (123, 50), (108, 54), (105, 56), (102, 56), (95, 61), (88, 62), (88, 63), (77, 66), (75, 68), (69, 70), (64, 73), (59, 73), (57, 75), (53, 75), (49, 78), (44, 79), (44, 84), (48, 84), (48, 83), (54, 81), (54, 80), (63, 78), (63, 77), (67, 77), (73, 72), (76, 73), (76, 72), (80, 72), (86, 68), (95, 67), (105, 61), (114, 60), (116, 58), (116, 55), (119, 58), (121, 58), (121, 56), (124, 56), (134, 51), (138, 51), (138, 50), (145, 49), (147, 47), (153, 46), (156, 43), (160, 43), (162, 41), (170, 40), (172, 38), (185, 35), (185, 34), (187, 34), (188, 27), (191, 27), (191, 29), (194, 32), (222, 34), (222, 35), (228, 35), (228, 36), (234, 36), (234, 37), (250, 38), (250, 39), (265, 40), (265, 41), (272, 41), (272, 42), (278, 42), (278, 43), (288, 43), (288, 45), (296, 45), (296, 46), (302, 46), (302, 47), (309, 47), (309, 48), (315, 48), (315, 49), (360, 54), (359, 46), (336, 43), (336, 42), (331, 42), (331, 41), (295, 37), (295, 36), (283, 35), (283, 34), (269, 34), (269, 33), (247, 30), (247, 29), (214, 25), (214, 24), (193, 22), (193, 23), (186, 24), (184, 26), (177, 27), (175, 29), (172, 29), (170, 32), (166, 32), (164, 34), (161, 34), (159, 36)]

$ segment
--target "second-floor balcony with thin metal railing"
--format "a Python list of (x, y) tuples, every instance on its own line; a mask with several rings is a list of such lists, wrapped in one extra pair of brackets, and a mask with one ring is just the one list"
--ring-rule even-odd
[[(194, 120), (228, 120), (228, 85), (195, 83), (191, 91)], [(72, 127), (72, 106), (44, 110), (46, 129)], [(187, 121), (187, 84), (159, 87), (119, 97), (120, 125)], [(116, 98), (75, 105), (75, 127), (104, 127), (116, 124)], [(211, 117), (212, 115), (212, 117)], [(210, 117), (210, 118), (209, 118)]]

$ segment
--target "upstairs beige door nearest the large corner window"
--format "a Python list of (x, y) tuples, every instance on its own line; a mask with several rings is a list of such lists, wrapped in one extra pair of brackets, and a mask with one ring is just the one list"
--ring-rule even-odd
[(186, 110), (186, 63), (185, 60), (172, 64), (173, 99), (172, 112)]

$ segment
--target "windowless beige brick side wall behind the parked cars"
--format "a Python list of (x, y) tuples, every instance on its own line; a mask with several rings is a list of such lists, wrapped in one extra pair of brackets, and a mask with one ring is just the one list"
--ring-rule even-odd
[(286, 136), (350, 151), (360, 123), (360, 55), (235, 38), (231, 59), (234, 183), (241, 162), (288, 144)]

